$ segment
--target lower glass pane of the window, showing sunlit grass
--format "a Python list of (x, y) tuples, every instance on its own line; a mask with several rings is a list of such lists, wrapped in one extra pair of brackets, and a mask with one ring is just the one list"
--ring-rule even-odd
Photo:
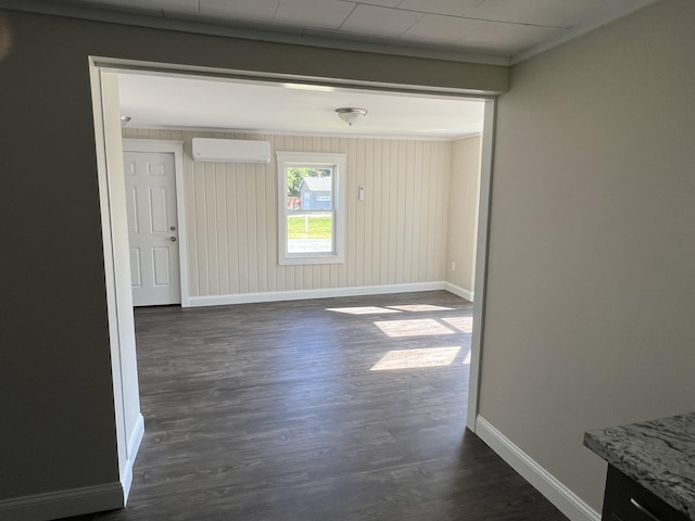
[(330, 212), (292, 212), (287, 216), (288, 253), (332, 253), (333, 215)]

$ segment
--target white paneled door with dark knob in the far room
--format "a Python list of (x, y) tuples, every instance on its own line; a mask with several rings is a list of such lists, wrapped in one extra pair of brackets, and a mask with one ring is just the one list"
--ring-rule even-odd
[(125, 152), (132, 305), (180, 304), (174, 154)]

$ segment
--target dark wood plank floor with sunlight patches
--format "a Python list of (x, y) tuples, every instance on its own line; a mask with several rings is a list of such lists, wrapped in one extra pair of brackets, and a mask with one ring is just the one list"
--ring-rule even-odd
[[(447, 309), (386, 307), (412, 305)], [(138, 309), (129, 503), (74, 519), (566, 520), (465, 430), (470, 316), (446, 292)], [(420, 356), (371, 370), (393, 351)]]

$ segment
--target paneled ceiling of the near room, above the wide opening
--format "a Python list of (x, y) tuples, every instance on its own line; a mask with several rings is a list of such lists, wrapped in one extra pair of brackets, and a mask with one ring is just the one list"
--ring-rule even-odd
[(13, 9), (50, 5), (68, 15), (159, 26), (184, 21), (190, 30), (217, 26), (250, 38), (504, 65), (654, 1), (22, 0)]

